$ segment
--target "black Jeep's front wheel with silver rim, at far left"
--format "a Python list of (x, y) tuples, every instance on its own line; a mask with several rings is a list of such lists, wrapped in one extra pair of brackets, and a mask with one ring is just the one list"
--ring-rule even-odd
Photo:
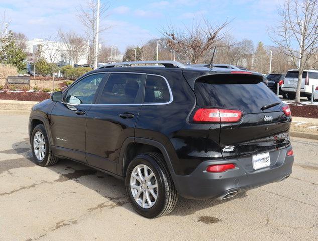
[(32, 131), (31, 150), (33, 161), (39, 166), (52, 166), (58, 162), (58, 158), (52, 153), (43, 124), (37, 125)]

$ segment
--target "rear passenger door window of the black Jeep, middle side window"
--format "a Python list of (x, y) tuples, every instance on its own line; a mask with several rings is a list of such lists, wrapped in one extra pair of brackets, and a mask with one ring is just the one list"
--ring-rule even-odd
[(100, 96), (99, 104), (141, 103), (138, 91), (144, 75), (130, 73), (112, 73)]

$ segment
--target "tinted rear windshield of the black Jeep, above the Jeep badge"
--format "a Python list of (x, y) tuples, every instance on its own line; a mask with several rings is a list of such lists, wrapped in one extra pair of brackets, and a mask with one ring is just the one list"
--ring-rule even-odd
[(275, 106), (264, 111), (264, 105), (281, 102), (263, 82), (197, 81), (194, 92), (199, 107), (239, 109), (245, 113), (280, 111)]

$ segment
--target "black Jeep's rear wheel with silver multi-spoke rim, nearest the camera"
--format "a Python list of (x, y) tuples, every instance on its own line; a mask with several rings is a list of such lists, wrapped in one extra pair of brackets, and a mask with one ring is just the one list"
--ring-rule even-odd
[[(139, 169), (138, 174), (136, 174), (136, 168)], [(148, 176), (152, 176), (151, 180)], [(135, 211), (144, 217), (154, 218), (166, 215), (177, 204), (178, 193), (164, 158), (159, 153), (137, 155), (128, 165), (125, 184), (130, 203)], [(151, 189), (152, 187), (156, 188)]]

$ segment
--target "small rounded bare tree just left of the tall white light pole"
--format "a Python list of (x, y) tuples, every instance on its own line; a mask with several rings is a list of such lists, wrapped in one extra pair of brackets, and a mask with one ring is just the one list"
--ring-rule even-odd
[(88, 52), (87, 41), (74, 31), (59, 30), (59, 36), (66, 48), (66, 57), (77, 64), (80, 58)]

